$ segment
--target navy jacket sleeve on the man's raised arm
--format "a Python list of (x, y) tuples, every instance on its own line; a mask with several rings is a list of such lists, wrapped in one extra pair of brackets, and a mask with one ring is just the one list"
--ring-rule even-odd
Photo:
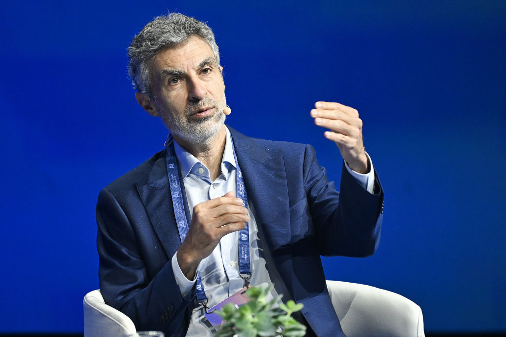
[[(376, 170), (374, 170), (376, 171)], [(375, 173), (374, 193), (367, 192), (343, 163), (340, 192), (327, 180), (312, 146), (304, 157), (306, 190), (320, 255), (367, 257), (378, 244), (383, 219), (383, 189)]]

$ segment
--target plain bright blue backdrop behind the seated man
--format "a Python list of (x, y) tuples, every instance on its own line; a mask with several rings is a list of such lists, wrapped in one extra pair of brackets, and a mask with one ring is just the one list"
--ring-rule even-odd
[(315, 101), (358, 109), (385, 189), (382, 243), (327, 279), (398, 292), (426, 331), (506, 331), (506, 2), (12, 2), (0, 14), (0, 332), (82, 331), (98, 288), (98, 192), (163, 147), (126, 48), (178, 11), (216, 34), (232, 114), (311, 143), (339, 181)]

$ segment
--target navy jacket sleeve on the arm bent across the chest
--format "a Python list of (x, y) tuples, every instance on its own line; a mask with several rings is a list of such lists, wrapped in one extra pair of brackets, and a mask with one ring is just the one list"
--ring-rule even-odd
[[(124, 202), (129, 202), (128, 199)], [(124, 207), (135, 209), (138, 205), (125, 204)], [(170, 261), (153, 275), (145, 262), (149, 256), (143, 256), (146, 253), (142, 243), (138, 242), (143, 235), (142, 228), (150, 228), (150, 225), (134, 224), (131, 218), (109, 189), (100, 192), (97, 249), (100, 290), (105, 303), (129, 316), (138, 330), (159, 330), (167, 336), (184, 336), (195, 292), (192, 290), (187, 299), (181, 296)], [(135, 222), (142, 218), (149, 222), (142, 216)]]

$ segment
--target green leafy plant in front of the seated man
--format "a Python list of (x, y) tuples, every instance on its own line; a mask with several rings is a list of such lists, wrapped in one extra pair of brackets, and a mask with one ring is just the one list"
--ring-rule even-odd
[[(291, 314), (303, 308), (302, 304), (288, 301), (286, 304), (280, 301), (281, 296), (267, 302), (267, 294), (270, 287), (250, 287), (247, 296), (250, 301), (239, 308), (233, 304), (226, 304), (222, 310), (216, 313), (220, 315), (224, 323), (216, 332), (219, 337), (303, 337), (306, 334), (306, 326), (296, 321)], [(273, 308), (275, 304), (279, 307)]]

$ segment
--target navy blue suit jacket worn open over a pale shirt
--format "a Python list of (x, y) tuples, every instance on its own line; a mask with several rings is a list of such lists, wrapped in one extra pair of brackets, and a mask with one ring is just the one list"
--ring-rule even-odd
[[(376, 193), (370, 194), (343, 166), (340, 194), (310, 145), (230, 131), (259, 232), (269, 247), (268, 261), (274, 264), (267, 267), (279, 272), (288, 291), (285, 296), (304, 304), (302, 314), (317, 335), (344, 335), (328, 296), (320, 255), (373, 254), (383, 217), (377, 177)], [(131, 317), (138, 330), (184, 336), (195, 294), (189, 300), (181, 297), (170, 263), (181, 242), (166, 151), (100, 192), (97, 224), (105, 302)]]

